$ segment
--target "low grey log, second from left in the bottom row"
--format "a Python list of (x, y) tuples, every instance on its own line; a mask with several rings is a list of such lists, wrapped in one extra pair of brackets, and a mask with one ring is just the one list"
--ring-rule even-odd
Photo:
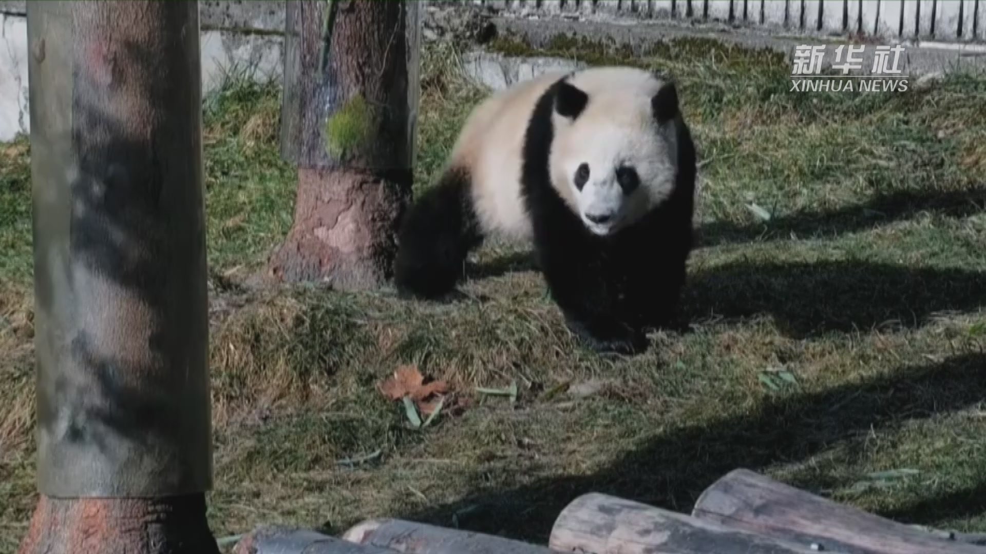
[(447, 529), (403, 519), (370, 519), (342, 538), (403, 554), (551, 554), (543, 546), (458, 529)]

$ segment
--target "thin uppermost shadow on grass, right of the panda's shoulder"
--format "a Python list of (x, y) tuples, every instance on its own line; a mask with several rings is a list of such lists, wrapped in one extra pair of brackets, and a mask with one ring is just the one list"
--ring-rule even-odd
[(833, 238), (905, 221), (922, 212), (966, 217), (983, 210), (986, 210), (986, 187), (951, 192), (898, 191), (878, 195), (862, 204), (831, 211), (799, 212), (765, 224), (711, 223), (698, 230), (696, 247), (788, 239), (792, 233), (802, 239)]

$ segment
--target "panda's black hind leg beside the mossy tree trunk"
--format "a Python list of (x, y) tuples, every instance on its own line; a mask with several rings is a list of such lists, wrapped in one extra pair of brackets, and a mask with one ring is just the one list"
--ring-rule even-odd
[(394, 284), (403, 298), (439, 300), (464, 272), (482, 238), (469, 198), (469, 174), (451, 169), (404, 216), (397, 236)]

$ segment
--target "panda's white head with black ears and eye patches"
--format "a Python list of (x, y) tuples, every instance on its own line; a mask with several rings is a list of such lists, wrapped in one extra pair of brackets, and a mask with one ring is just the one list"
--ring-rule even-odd
[(553, 94), (551, 183), (590, 232), (616, 233), (669, 197), (680, 124), (672, 82), (599, 67), (560, 81)]

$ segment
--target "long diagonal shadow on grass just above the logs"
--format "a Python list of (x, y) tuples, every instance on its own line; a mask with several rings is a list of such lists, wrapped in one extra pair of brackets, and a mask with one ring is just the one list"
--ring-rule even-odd
[[(864, 440), (872, 428), (892, 429), (973, 405), (986, 395), (984, 365), (986, 354), (956, 356), (940, 364), (900, 368), (872, 381), (768, 400), (754, 413), (656, 435), (645, 448), (595, 474), (481, 491), (429, 513), (395, 517), (446, 526), (458, 520), (460, 528), (545, 544), (559, 512), (588, 492), (687, 513), (701, 491), (738, 467), (763, 470), (802, 461), (837, 442)], [(819, 488), (811, 482), (797, 485)], [(950, 504), (951, 515), (978, 512), (981, 498), (970, 492), (953, 499), (969, 503)], [(934, 510), (936, 502), (928, 503), (927, 510)], [(918, 509), (897, 516), (924, 513)]]

